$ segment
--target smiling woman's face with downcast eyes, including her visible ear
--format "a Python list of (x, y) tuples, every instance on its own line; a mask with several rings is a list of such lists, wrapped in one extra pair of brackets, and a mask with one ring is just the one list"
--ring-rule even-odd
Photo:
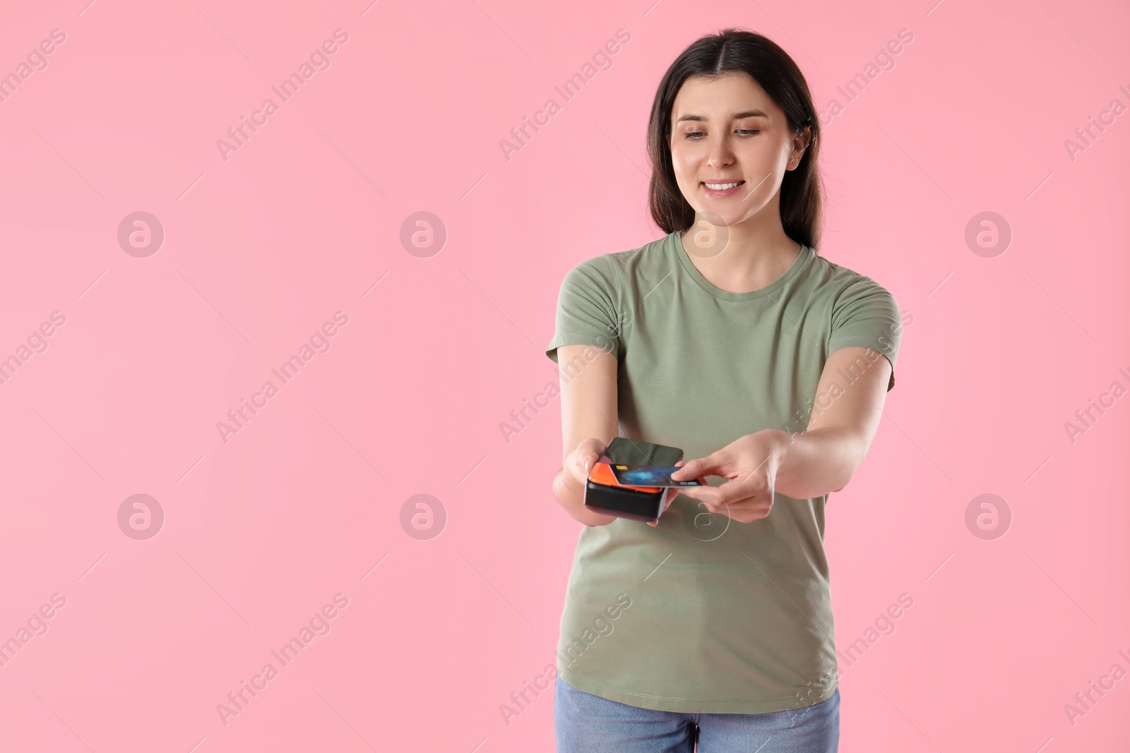
[(807, 126), (790, 131), (784, 111), (742, 72), (692, 77), (671, 107), (679, 190), (714, 224), (737, 225), (765, 207), (780, 212), (781, 181), (800, 164), (809, 138)]

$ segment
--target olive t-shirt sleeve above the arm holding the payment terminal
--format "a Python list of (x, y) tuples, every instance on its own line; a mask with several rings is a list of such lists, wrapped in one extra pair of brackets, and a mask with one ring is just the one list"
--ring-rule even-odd
[(585, 344), (619, 358), (617, 291), (615, 270), (607, 254), (588, 259), (570, 270), (557, 296), (554, 336), (546, 345), (546, 356), (557, 362), (559, 347)]

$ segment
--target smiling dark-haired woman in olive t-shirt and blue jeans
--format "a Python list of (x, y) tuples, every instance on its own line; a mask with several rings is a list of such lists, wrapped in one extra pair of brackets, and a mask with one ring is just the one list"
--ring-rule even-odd
[[(824, 508), (894, 386), (901, 314), (817, 255), (819, 122), (793, 60), (725, 29), (671, 64), (649, 125), (668, 235), (585, 260), (546, 353), (562, 507), (585, 524), (555, 684), (560, 752), (835, 751)], [(647, 526), (585, 508), (623, 435), (685, 450)]]

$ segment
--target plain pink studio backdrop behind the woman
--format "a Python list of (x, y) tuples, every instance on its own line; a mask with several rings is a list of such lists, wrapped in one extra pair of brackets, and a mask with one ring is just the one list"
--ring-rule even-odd
[[(66, 316), (0, 385), (0, 639), (66, 598), (0, 668), (0, 748), (553, 750), (551, 691), (508, 725), (499, 706), (554, 662), (581, 528), (550, 493), (559, 401), (510, 443), (499, 423), (556, 380), (565, 272), (661, 235), (659, 78), (742, 25), (844, 107), (820, 253), (912, 317), (829, 507), (841, 648), (914, 599), (842, 667), (841, 750), (1125, 750), (1130, 678), (1074, 725), (1063, 708), (1130, 671), (1130, 399), (1064, 430), (1130, 387), (1130, 114), (1064, 147), (1130, 105), (1124, 6), (157, 5), (9, 3), (0, 24), (0, 72), (66, 34), (0, 103), (0, 357)], [(280, 103), (270, 87), (337, 28), (331, 67)], [(619, 28), (612, 68), (563, 103)], [(216, 141), (267, 97), (225, 160)], [(549, 97), (562, 112), (507, 161), (499, 141)], [(136, 211), (165, 231), (148, 257), (118, 243)], [(400, 242), (419, 211), (447, 233), (427, 257)], [(983, 211), (1012, 233), (993, 257), (965, 242)], [(225, 443), (217, 422), (338, 310), (330, 350)], [(165, 515), (148, 540), (118, 522), (137, 493)], [(446, 513), (431, 540), (401, 526), (419, 493)], [(1006, 535), (966, 527), (982, 493)], [(225, 725), (217, 704), (339, 593), (331, 631)]]

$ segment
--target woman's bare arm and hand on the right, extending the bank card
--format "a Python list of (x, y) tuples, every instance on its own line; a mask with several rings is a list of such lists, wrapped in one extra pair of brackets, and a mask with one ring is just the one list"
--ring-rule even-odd
[(806, 431), (765, 429), (739, 437), (671, 478), (728, 479), (719, 487), (679, 491), (741, 523), (767, 516), (774, 491), (793, 499), (840, 491), (871, 446), (889, 378), (890, 361), (878, 351), (840, 348), (825, 361)]

